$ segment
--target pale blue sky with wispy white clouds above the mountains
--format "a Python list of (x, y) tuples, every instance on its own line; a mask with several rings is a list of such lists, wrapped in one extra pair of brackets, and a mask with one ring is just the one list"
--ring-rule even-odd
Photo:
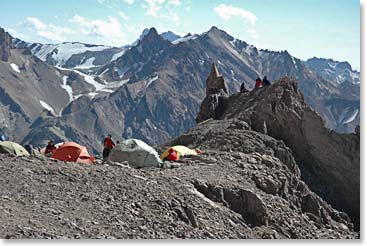
[(359, 0), (13, 0), (0, 26), (26, 41), (122, 46), (146, 27), (177, 34), (217, 26), (258, 48), (360, 69)]

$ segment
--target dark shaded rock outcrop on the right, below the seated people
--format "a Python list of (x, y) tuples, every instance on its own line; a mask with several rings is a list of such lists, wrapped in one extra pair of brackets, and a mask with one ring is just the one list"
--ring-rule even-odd
[[(347, 212), (359, 226), (357, 134), (338, 134), (326, 129), (320, 116), (304, 103), (297, 83), (287, 78), (271, 87), (233, 95), (225, 105), (216, 119), (239, 119), (256, 131), (283, 140), (292, 149), (302, 177), (311, 189)], [(209, 111), (204, 118), (210, 117)]]

